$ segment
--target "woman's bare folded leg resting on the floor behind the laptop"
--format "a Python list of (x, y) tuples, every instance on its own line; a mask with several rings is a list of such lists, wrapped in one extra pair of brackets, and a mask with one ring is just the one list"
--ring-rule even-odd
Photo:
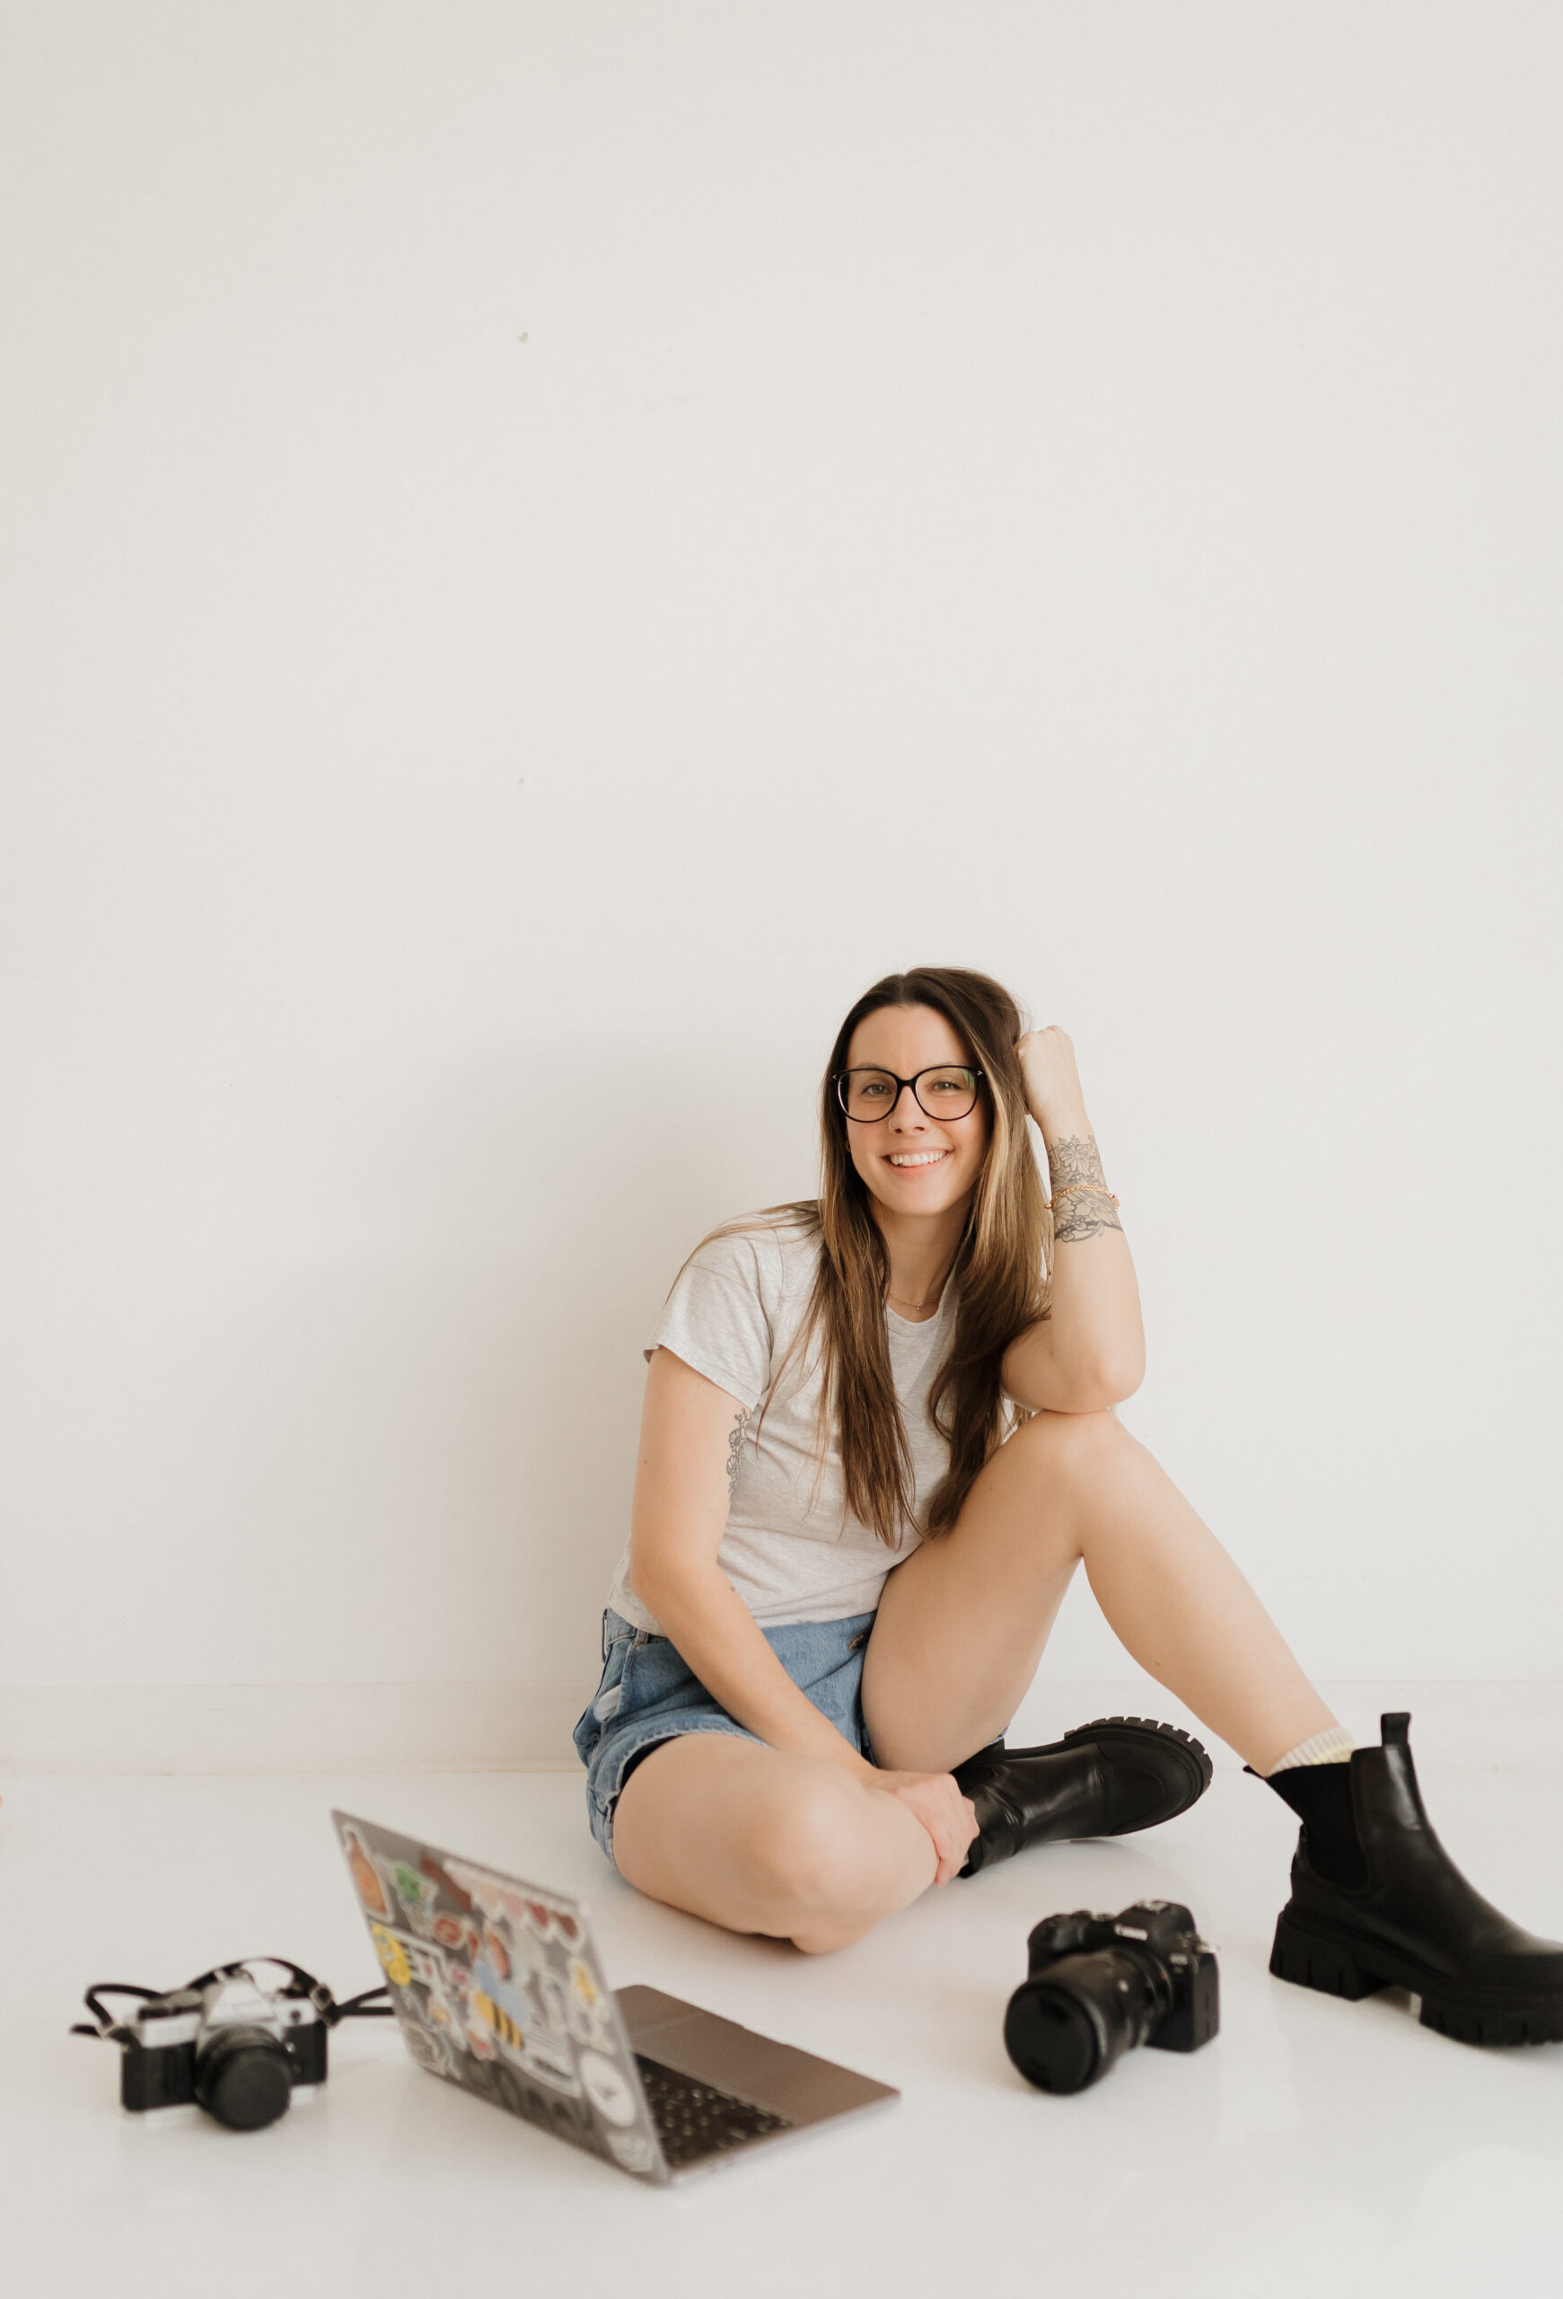
[(933, 1839), (894, 1796), (821, 1756), (680, 1733), (614, 1814), (618, 1874), (726, 1931), (848, 1947), (933, 1883)]

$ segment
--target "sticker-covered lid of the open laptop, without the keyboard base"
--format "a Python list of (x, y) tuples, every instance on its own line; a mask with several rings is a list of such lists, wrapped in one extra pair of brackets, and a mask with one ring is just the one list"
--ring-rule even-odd
[(418, 2067), (667, 2182), (582, 1904), (349, 1812), (331, 1821)]

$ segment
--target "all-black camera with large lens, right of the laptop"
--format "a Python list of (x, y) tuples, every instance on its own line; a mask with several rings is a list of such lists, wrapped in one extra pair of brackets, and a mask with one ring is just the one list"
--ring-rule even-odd
[(1221, 2025), (1216, 1956), (1170, 1899), (1048, 1915), (1025, 1947), (1004, 2051), (1044, 2092), (1083, 2092), (1135, 2044), (1198, 2051)]

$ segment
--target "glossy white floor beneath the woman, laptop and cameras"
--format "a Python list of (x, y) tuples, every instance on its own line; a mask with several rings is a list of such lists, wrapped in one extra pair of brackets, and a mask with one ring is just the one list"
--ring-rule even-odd
[[(1563, 1931), (1563, 1775), (1423, 1766), (1471, 1876)], [(609, 1975), (646, 1979), (896, 2083), (860, 2127), (646, 2191), (345, 2028), (324, 2092), (271, 2131), (129, 2117), (117, 2053), (67, 2037), (90, 1979), (177, 1984), (280, 1950), (340, 1993), (375, 1963), (331, 1802), (591, 1897)], [(809, 1961), (655, 1908), (586, 1837), (579, 1777), (5, 1784), (0, 2258), (7, 2292), (1400, 2299), (1563, 2288), (1563, 2046), (1480, 2053), (1404, 1998), (1266, 1975), (1287, 1814), (1232, 1759), (1184, 1821), (1037, 1851)], [(1223, 2030), (1078, 2099), (1011, 2071), (1000, 2021), (1030, 1924), (1186, 1899)]]

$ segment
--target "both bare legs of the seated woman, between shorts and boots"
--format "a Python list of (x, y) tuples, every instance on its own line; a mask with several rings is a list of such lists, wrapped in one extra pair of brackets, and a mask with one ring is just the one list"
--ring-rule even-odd
[[(885, 1584), (864, 1667), (883, 1763), (949, 1770), (1004, 1731), (1080, 1559), (1129, 1653), (1257, 1770), (1335, 1722), (1145, 1446), (1112, 1414), (1037, 1414), (956, 1529)], [(683, 1733), (637, 1766), (614, 1855), (650, 1899), (809, 1952), (860, 1940), (936, 1871), (894, 1796), (731, 1733)]]

